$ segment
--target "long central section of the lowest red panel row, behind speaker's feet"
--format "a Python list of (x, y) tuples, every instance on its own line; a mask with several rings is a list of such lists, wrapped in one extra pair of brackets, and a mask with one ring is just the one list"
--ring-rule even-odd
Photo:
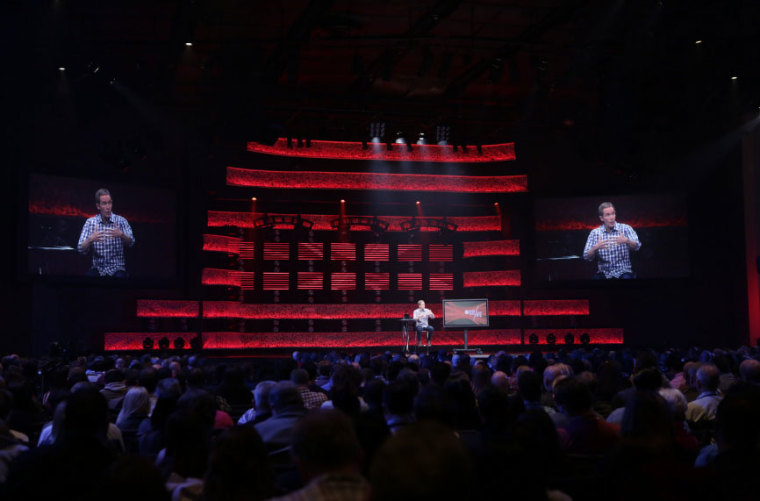
[[(478, 346), (514, 346), (521, 343), (519, 329), (472, 330), (468, 343)], [(464, 346), (463, 331), (436, 331), (433, 346)], [(401, 349), (398, 331), (387, 332), (204, 332), (208, 350), (250, 348), (367, 348)]]

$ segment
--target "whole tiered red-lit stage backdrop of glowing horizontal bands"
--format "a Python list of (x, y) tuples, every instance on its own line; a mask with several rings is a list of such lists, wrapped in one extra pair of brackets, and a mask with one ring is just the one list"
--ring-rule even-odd
[[(335, 160), (340, 168), (310, 170), (309, 160), (299, 170), (228, 167), (227, 185), (248, 201), (247, 210), (208, 212), (200, 272), (206, 297), (138, 301), (146, 330), (106, 333), (105, 349), (400, 349), (402, 318), (419, 298), (438, 317), (434, 348), (463, 347), (461, 329), (443, 328), (441, 303), (466, 298), (489, 300), (490, 322), (469, 330), (471, 347), (623, 342), (622, 329), (594, 325), (588, 299), (523, 296), (520, 234), (510, 218), (524, 209), (510, 200), (527, 192), (527, 176), (499, 173), (515, 159), (513, 144), (466, 152), (402, 146), (249, 143), (257, 165), (278, 155), (319, 165)], [(374, 171), (379, 161), (384, 172)], [(410, 173), (409, 165), (420, 162), (428, 173)], [(445, 170), (453, 163), (456, 173)], [(436, 166), (441, 170), (433, 175)], [(335, 201), (335, 212), (324, 213), (314, 209), (319, 204), (301, 202), (307, 195), (334, 200), (336, 192), (360, 200), (359, 209)], [(405, 194), (403, 210), (383, 198)], [(426, 194), (459, 198), (415, 204)], [(278, 207), (289, 203), (293, 210), (262, 210), (277, 197)]]

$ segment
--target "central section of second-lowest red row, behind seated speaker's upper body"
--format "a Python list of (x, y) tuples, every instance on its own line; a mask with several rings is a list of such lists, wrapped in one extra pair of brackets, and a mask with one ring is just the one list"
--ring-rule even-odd
[[(428, 303), (433, 313), (441, 312), (441, 305)], [(401, 318), (416, 308), (414, 303), (391, 304), (261, 304), (237, 301), (204, 301), (203, 318), (247, 319), (387, 319)], [(489, 301), (489, 316), (520, 316), (520, 301)]]

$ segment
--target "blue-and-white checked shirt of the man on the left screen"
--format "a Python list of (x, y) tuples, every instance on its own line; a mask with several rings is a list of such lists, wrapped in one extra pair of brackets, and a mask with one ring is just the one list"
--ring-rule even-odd
[(119, 229), (129, 237), (129, 247), (135, 245), (135, 237), (132, 235), (132, 228), (126, 219), (116, 214), (111, 214), (109, 221), (104, 221), (100, 214), (89, 218), (82, 227), (82, 234), (79, 235), (77, 251), (80, 254), (87, 254), (92, 250), (92, 267), (98, 270), (100, 276), (110, 276), (119, 270), (126, 271), (124, 264), (124, 240), (119, 237), (106, 237), (102, 241), (92, 242), (87, 251), (82, 249), (82, 244), (90, 235), (96, 231), (106, 231), (118, 226)]

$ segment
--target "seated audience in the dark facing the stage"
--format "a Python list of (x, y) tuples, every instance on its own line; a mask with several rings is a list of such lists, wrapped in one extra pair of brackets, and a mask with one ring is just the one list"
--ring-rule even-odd
[(0, 366), (0, 499), (758, 499), (760, 351)]

